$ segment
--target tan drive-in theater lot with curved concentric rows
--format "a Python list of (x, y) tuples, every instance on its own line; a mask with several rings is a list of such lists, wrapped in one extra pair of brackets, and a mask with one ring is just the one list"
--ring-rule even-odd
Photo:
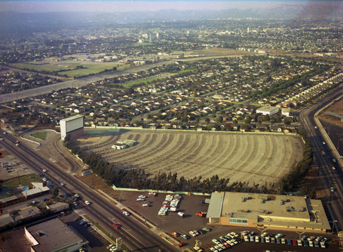
[[(137, 144), (111, 148), (125, 139)], [(304, 149), (297, 136), (143, 130), (102, 136), (94, 142), (80, 139), (79, 144), (121, 168), (141, 168), (152, 175), (176, 172), (186, 178), (218, 175), (250, 185), (277, 181), (303, 158)]]

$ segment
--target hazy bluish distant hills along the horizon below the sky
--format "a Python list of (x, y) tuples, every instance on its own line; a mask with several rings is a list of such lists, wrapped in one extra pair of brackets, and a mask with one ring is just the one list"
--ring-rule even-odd
[(302, 5), (279, 5), (259, 9), (230, 10), (161, 10), (158, 12), (0, 12), (0, 35), (15, 36), (60, 28), (123, 27), (152, 21), (199, 21), (213, 18), (342, 18), (342, 2), (308, 2)]

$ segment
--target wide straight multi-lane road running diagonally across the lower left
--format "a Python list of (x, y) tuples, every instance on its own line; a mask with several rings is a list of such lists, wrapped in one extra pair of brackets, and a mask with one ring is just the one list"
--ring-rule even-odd
[[(60, 185), (63, 181), (67, 184), (64, 187), (60, 187), (59, 191), (62, 193), (75, 193), (78, 192), (82, 195), (82, 202), (79, 204), (79, 208), (87, 216), (90, 216), (95, 222), (99, 223), (108, 233), (112, 236), (120, 236), (123, 240), (123, 244), (130, 249), (130, 251), (178, 251), (176, 247), (165, 242), (157, 234), (147, 229), (145, 225), (142, 225), (139, 221), (135, 220), (132, 216), (125, 216), (122, 210), (110, 203), (97, 192), (93, 191), (88, 186), (82, 184), (82, 182), (75, 179), (69, 173), (62, 171), (53, 163), (46, 160), (45, 157), (40, 156), (36, 151), (27, 147), (21, 143), (19, 147), (16, 146), (16, 140), (14, 136), (10, 134), (3, 135), (3, 129), (0, 129), (0, 134), (4, 140), (0, 141), (1, 146), (19, 158), (24, 164), (30, 167), (36, 173), (42, 172), (42, 167), (48, 170), (47, 178), (52, 181), (55, 186)], [(91, 205), (84, 204), (84, 201), (91, 201)], [(112, 224), (120, 223), (121, 228), (115, 229)]]

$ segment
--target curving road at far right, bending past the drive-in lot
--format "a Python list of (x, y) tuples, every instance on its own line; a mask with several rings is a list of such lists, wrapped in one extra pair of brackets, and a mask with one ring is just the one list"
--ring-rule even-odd
[[(317, 125), (314, 119), (316, 111), (325, 105), (329, 104), (334, 99), (343, 95), (343, 86), (341, 85), (337, 90), (333, 90), (322, 99), (318, 99), (316, 103), (307, 106), (300, 112), (300, 122), (307, 131), (312, 144), (312, 150), (314, 153), (314, 164), (318, 166), (319, 175), (322, 179), (324, 188), (329, 195), (328, 202), (331, 210), (333, 210), (333, 220), (338, 220), (335, 223), (335, 231), (342, 230), (343, 223), (343, 186), (342, 186), (342, 167), (338, 167), (337, 164), (333, 164), (333, 158), (337, 159), (333, 155), (331, 149), (327, 144), (326, 136), (323, 136), (324, 129)], [(315, 128), (317, 127), (317, 128)], [(324, 133), (325, 134), (325, 133)], [(325, 142), (325, 144), (323, 144)], [(324, 151), (324, 155), (322, 155)], [(336, 169), (333, 170), (333, 166), (336, 165)], [(331, 192), (330, 187), (335, 188), (335, 192)]]

